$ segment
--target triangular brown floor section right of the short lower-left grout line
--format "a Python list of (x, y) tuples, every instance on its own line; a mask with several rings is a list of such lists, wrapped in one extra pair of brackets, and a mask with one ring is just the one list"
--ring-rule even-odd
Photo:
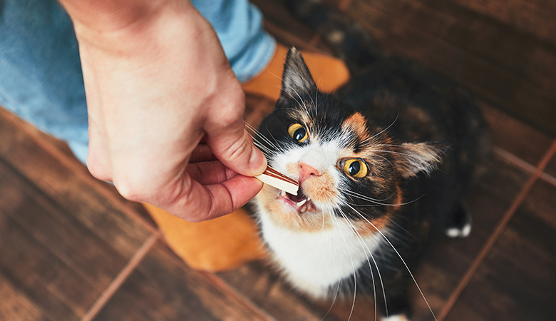
[(157, 243), (96, 320), (264, 320)]

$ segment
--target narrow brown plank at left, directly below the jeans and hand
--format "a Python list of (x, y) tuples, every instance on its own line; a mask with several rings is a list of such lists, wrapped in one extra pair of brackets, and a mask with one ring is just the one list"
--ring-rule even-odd
[(148, 230), (118, 210), (98, 191), (43, 151), (12, 121), (0, 118), (0, 157), (48, 198), (130, 258), (148, 237)]

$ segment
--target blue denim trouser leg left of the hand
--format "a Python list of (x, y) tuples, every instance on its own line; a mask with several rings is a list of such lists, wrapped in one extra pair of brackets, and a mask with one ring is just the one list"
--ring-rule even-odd
[(67, 141), (85, 163), (87, 108), (69, 16), (56, 1), (0, 6), (0, 105)]

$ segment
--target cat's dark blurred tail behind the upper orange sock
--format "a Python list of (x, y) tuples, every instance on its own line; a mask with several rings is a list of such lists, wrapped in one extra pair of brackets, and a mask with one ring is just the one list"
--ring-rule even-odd
[(382, 56), (371, 35), (339, 9), (322, 4), (320, 0), (286, 0), (286, 5), (297, 19), (324, 36), (352, 74)]

